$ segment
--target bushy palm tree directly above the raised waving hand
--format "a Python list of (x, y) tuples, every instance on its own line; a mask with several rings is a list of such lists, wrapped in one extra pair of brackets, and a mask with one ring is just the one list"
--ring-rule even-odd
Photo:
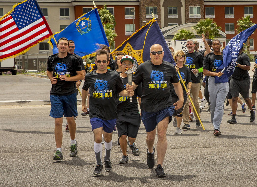
[(221, 27), (217, 26), (216, 22), (213, 22), (213, 19), (210, 18), (200, 19), (195, 26), (192, 26), (192, 29), (196, 30), (198, 35), (204, 34), (206, 39), (221, 36), (219, 34)]

